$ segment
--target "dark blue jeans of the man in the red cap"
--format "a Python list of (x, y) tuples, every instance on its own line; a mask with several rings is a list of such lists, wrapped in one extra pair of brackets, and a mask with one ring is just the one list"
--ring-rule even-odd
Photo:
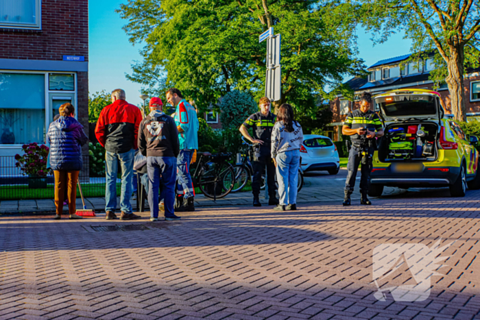
[(163, 185), (161, 197), (164, 199), (165, 217), (174, 215), (176, 170), (175, 157), (147, 157), (150, 217), (158, 218), (158, 188), (160, 182)]

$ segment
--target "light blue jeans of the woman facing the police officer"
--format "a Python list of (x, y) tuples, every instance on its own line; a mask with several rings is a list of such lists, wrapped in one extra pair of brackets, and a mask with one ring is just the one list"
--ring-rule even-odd
[(300, 150), (297, 149), (278, 153), (275, 160), (280, 204), (283, 206), (287, 204), (296, 204)]

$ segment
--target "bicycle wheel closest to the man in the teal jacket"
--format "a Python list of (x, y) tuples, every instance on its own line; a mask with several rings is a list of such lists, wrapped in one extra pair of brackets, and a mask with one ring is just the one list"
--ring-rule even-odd
[(235, 184), (235, 172), (226, 162), (210, 163), (200, 177), (198, 186), (205, 197), (222, 198), (228, 195)]

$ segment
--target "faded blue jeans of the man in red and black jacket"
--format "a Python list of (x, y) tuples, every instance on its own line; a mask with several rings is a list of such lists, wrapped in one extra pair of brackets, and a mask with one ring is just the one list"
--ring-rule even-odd
[(125, 153), (105, 151), (105, 211), (115, 212), (117, 209), (117, 173), (121, 167), (120, 209), (126, 214), (132, 213), (130, 197), (132, 197), (132, 176), (134, 149)]

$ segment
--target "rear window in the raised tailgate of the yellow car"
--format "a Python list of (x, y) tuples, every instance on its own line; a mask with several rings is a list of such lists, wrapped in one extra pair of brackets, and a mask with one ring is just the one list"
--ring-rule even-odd
[(437, 113), (435, 97), (431, 95), (392, 95), (379, 97), (376, 103), (386, 116), (424, 116)]

